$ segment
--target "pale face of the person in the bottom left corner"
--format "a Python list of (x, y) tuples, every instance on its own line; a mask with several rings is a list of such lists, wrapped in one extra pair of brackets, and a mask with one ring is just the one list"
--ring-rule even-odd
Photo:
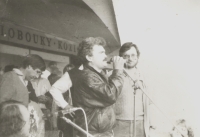
[(30, 113), (28, 111), (28, 109), (23, 106), (23, 105), (19, 105), (19, 109), (21, 111), (23, 120), (25, 122), (25, 125), (23, 126), (22, 130), (21, 130), (21, 134), (25, 135), (25, 136), (29, 136), (29, 130), (30, 130)]

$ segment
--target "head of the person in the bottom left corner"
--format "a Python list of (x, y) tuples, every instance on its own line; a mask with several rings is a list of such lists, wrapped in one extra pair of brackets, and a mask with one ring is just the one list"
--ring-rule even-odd
[(7, 100), (0, 104), (0, 136), (29, 137), (30, 114), (24, 104)]

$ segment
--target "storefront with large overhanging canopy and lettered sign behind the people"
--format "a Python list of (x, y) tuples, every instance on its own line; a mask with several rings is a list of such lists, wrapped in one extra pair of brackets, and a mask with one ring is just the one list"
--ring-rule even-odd
[(47, 64), (57, 62), (62, 71), (78, 43), (91, 36), (107, 41), (107, 54), (120, 46), (111, 1), (1, 1), (0, 8), (0, 67), (38, 54)]

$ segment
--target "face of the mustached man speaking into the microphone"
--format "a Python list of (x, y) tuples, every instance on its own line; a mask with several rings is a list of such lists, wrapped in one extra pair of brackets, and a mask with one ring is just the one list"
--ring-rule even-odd
[(92, 56), (87, 56), (87, 59), (90, 62), (89, 64), (97, 71), (101, 71), (108, 65), (105, 49), (100, 45), (94, 45)]

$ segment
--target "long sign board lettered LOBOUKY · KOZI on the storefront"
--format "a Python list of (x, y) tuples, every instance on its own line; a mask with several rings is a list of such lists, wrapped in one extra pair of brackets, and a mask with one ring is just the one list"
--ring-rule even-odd
[(0, 21), (0, 41), (22, 44), (28, 47), (77, 54), (78, 44), (45, 32)]

